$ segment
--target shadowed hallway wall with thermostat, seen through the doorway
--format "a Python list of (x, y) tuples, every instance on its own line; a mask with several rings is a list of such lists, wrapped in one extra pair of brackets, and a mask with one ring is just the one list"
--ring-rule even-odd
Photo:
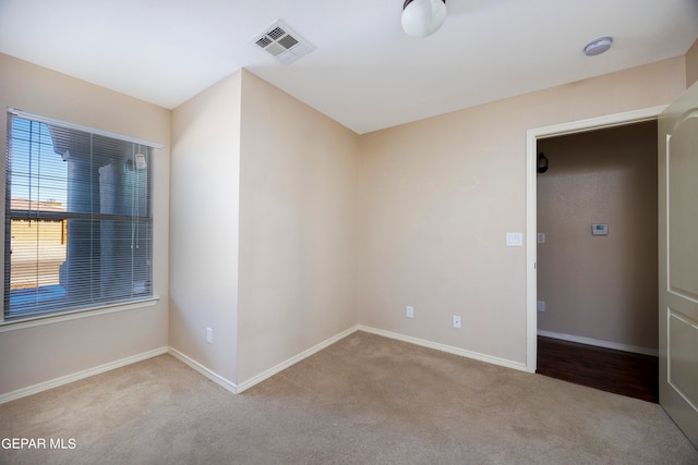
[(538, 149), (550, 162), (538, 175), (538, 329), (657, 350), (657, 122)]

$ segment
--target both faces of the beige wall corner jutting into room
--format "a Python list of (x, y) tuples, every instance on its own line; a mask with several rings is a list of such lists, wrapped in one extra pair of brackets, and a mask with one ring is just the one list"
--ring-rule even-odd
[(356, 325), (358, 135), (240, 71), (172, 140), (170, 345), (240, 386)]

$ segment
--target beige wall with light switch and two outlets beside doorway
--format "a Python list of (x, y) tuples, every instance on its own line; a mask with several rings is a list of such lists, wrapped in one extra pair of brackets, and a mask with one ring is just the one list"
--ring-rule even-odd
[(364, 135), (360, 322), (525, 364), (526, 249), (505, 235), (526, 231), (526, 131), (684, 89), (678, 57)]

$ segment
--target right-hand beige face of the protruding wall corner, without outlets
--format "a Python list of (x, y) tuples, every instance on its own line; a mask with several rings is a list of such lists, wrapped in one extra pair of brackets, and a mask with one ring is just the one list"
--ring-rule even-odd
[(357, 323), (359, 136), (242, 73), (239, 380)]

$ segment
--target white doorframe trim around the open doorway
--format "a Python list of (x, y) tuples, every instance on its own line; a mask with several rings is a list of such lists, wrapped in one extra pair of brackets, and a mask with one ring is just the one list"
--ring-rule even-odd
[(526, 371), (535, 372), (538, 363), (538, 139), (653, 121), (666, 107), (607, 114), (526, 132)]

